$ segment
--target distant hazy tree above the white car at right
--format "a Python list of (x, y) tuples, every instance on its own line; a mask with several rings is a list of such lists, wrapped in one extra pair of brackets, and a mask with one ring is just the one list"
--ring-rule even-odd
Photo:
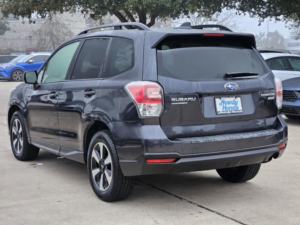
[(277, 30), (274, 32), (259, 32), (255, 35), (256, 45), (260, 48), (276, 48), (282, 49), (283, 47), (283, 35), (281, 35)]

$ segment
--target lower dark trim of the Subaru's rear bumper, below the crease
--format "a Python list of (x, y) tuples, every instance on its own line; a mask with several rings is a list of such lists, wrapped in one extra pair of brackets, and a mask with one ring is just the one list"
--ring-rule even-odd
[[(287, 139), (280, 142), (286, 144)], [(183, 156), (179, 154), (143, 154), (137, 160), (121, 160), (120, 166), (125, 176), (146, 174), (180, 173), (201, 170), (214, 170), (226, 167), (249, 165), (268, 162), (272, 158), (280, 157), (285, 148), (269, 147), (252, 151), (224, 153), (219, 155)], [(150, 164), (146, 158), (179, 158), (173, 163)]]

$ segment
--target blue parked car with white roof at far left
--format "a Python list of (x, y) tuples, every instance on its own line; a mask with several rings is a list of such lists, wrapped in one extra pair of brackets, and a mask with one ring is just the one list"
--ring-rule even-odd
[[(19, 60), (0, 66), (0, 80), (23, 81), (23, 74), (28, 70), (39, 70), (49, 53), (36, 53), (19, 56)], [(14, 61), (14, 60), (12, 60)]]

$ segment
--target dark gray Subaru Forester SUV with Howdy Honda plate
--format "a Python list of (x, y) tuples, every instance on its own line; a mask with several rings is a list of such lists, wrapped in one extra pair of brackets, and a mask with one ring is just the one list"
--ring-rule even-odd
[[(105, 27), (114, 30), (91, 32)], [(103, 25), (63, 43), (10, 91), (14, 156), (42, 148), (87, 163), (104, 201), (128, 197), (143, 174), (252, 179), (286, 148), (281, 82), (252, 34), (205, 27)]]

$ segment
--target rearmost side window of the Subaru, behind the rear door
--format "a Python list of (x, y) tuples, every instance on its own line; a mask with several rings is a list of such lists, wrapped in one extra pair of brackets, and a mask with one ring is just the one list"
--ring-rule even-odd
[(110, 45), (104, 78), (113, 77), (134, 66), (134, 44), (127, 38), (114, 37)]

